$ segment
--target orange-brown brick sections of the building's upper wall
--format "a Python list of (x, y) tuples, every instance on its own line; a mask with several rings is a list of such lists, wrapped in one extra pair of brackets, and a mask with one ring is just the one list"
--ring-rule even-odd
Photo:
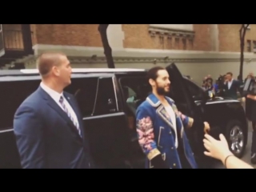
[[(218, 25), (219, 51), (240, 51), (239, 25)], [(186, 48), (182, 39), (175, 43), (174, 38), (165, 37), (163, 41), (152, 38), (148, 31), (149, 25), (122, 25), (125, 34), (123, 45), (125, 48), (161, 49), (161, 50), (211, 50), (210, 25), (194, 24), (194, 41), (187, 41)], [(98, 25), (34, 25), (34, 44), (65, 45), (65, 46), (96, 46), (102, 42), (98, 33)], [(246, 32), (246, 40), (251, 40), (251, 50), (256, 41), (256, 25), (250, 25)], [(256, 47), (256, 42), (255, 42)], [(245, 46), (245, 50), (246, 46)]]

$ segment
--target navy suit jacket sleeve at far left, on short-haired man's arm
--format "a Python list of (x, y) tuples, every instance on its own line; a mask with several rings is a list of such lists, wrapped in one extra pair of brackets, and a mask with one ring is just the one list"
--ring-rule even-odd
[(43, 123), (27, 104), (20, 106), (14, 115), (14, 135), (22, 168), (46, 168)]

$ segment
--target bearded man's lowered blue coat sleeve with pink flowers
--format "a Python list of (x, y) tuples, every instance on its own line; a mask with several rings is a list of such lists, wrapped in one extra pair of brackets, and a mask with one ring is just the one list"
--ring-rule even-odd
[(168, 168), (166, 162), (162, 159), (162, 154), (158, 150), (154, 141), (154, 127), (152, 117), (148, 111), (139, 106), (136, 112), (138, 143), (142, 147), (142, 151), (151, 161), (155, 168)]

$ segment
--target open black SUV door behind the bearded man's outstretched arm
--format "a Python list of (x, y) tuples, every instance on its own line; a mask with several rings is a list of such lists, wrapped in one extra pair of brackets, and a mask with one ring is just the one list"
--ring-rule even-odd
[[(185, 79), (182, 77), (181, 72), (178, 70), (178, 67), (172, 63), (166, 67), (170, 75), (170, 97), (174, 99), (178, 110), (182, 112), (182, 114), (186, 114), (191, 118), (198, 118), (202, 120), (202, 114), (196, 110), (197, 106), (194, 103), (193, 96), (190, 95), (190, 91), (186, 86)], [(186, 130), (187, 137), (190, 141), (190, 146), (194, 151), (195, 158), (202, 158), (203, 155), (203, 130)]]

